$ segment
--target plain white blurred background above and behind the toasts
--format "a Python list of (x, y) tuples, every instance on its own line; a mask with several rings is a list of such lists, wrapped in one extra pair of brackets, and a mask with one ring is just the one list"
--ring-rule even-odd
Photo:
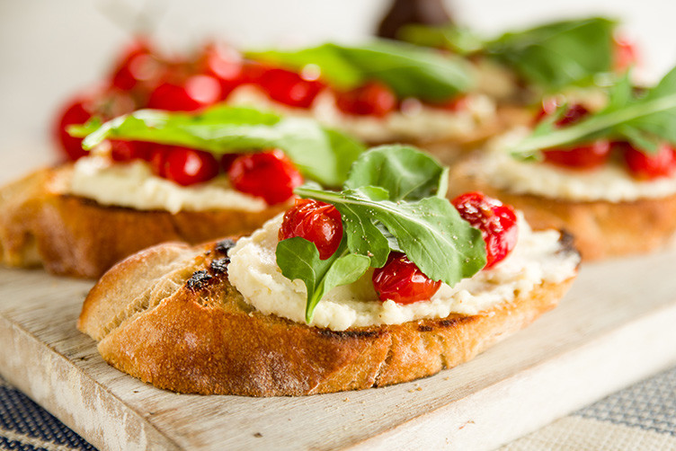
[[(101, 79), (147, 11), (165, 49), (208, 38), (239, 46), (360, 40), (388, 0), (0, 0), (0, 152), (26, 169), (49, 158), (49, 127), (60, 102)], [(588, 14), (625, 23), (645, 72), (676, 64), (673, 0), (452, 0), (457, 22), (487, 33)]]

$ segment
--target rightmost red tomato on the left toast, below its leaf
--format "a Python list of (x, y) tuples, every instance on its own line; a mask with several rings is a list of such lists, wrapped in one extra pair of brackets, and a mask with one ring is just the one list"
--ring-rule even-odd
[(268, 205), (288, 200), (303, 183), (296, 166), (279, 149), (238, 156), (227, 176), (236, 190), (262, 198)]

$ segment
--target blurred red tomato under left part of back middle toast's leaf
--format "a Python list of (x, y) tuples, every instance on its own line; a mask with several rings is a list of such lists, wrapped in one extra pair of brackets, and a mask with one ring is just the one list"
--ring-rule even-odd
[(309, 108), (325, 87), (317, 80), (307, 80), (296, 72), (279, 67), (263, 70), (255, 78), (255, 84), (261, 86), (273, 101), (297, 108)]

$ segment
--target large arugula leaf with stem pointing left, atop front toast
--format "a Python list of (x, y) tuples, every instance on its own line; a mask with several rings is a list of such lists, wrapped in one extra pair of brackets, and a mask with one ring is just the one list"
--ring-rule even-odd
[[(345, 218), (348, 249), (373, 256), (371, 266), (385, 264), (390, 251), (384, 249), (387, 237), (376, 226), (380, 223), (430, 279), (453, 286), (485, 267), (485, 243), (481, 232), (462, 219), (447, 199), (434, 197), (392, 202), (373, 196), (368, 187), (331, 192), (301, 186), (296, 193), (338, 208)], [(351, 236), (354, 236), (353, 243), (349, 240)], [(386, 254), (384, 259), (382, 254)], [(378, 260), (375, 264), (374, 259)]]

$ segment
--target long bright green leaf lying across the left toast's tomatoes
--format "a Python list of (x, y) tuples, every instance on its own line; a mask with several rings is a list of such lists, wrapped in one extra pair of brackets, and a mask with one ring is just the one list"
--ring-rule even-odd
[(105, 139), (188, 146), (215, 155), (279, 147), (300, 172), (326, 186), (340, 186), (351, 164), (365, 150), (357, 140), (312, 119), (282, 118), (226, 105), (200, 113), (139, 110), (102, 125), (93, 121), (68, 131), (86, 136), (85, 149)]

